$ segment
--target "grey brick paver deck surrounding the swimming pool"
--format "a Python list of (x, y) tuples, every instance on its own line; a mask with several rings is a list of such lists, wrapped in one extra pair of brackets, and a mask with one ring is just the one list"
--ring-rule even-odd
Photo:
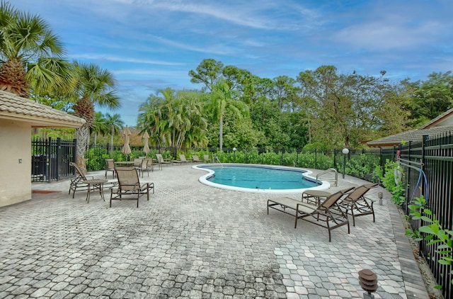
[[(281, 195), (212, 188), (202, 174), (190, 165), (145, 174), (156, 192), (139, 208), (108, 208), (108, 190), (105, 202), (93, 193), (86, 203), (85, 191), (73, 199), (69, 181), (33, 184), (62, 192), (0, 208), (0, 298), (363, 298), (361, 269), (377, 273), (375, 298), (428, 298), (384, 189), (369, 192), (384, 192), (376, 222), (357, 218), (328, 242), (323, 227), (267, 215)], [(330, 191), (364, 183), (346, 176)]]

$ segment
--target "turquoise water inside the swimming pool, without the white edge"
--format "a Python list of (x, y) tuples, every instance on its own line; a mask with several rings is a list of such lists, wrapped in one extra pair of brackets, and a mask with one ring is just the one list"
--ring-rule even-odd
[(313, 188), (319, 186), (315, 180), (310, 181), (302, 174), (302, 169), (282, 169), (277, 167), (259, 167), (251, 165), (204, 165), (202, 169), (214, 171), (206, 179), (214, 184), (222, 184), (239, 188), (261, 190), (287, 190)]

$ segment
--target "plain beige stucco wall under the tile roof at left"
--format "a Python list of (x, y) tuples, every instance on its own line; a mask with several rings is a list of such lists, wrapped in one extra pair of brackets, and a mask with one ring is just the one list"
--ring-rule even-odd
[(31, 198), (30, 175), (31, 125), (0, 119), (0, 206)]

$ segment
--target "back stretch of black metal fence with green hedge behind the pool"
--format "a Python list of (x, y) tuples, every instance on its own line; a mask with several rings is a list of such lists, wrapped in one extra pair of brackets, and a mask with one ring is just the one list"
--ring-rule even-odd
[(178, 159), (178, 154), (185, 154), (190, 159), (192, 155), (202, 157), (204, 154), (214, 155), (224, 163), (246, 164), (272, 164), (311, 169), (335, 168), (352, 176), (367, 181), (379, 181), (379, 171), (384, 169), (386, 159), (393, 161), (396, 150), (374, 148), (371, 150), (350, 150), (343, 154), (342, 150), (300, 150), (300, 149), (236, 149), (224, 147), (222, 151), (217, 148), (183, 147), (149, 147), (150, 152), (145, 154), (143, 146), (131, 146), (132, 153), (128, 156), (122, 154), (122, 145), (96, 144), (89, 145), (86, 154), (86, 169), (95, 171), (105, 169), (105, 159), (125, 161), (134, 157), (155, 157), (161, 153), (166, 158)]

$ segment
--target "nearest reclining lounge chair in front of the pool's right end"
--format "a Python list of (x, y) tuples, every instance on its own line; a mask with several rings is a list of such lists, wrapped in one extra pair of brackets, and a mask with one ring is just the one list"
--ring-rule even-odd
[[(297, 220), (299, 219), (325, 227), (328, 230), (328, 242), (331, 242), (331, 230), (335, 230), (337, 227), (348, 225), (348, 234), (350, 233), (348, 215), (338, 205), (338, 201), (352, 189), (353, 187), (333, 193), (319, 205), (302, 203), (302, 201), (287, 197), (269, 199), (268, 214), (269, 208), (273, 208), (293, 215), (295, 217), (294, 228), (297, 227)], [(294, 213), (289, 212), (287, 209), (293, 210)]]

